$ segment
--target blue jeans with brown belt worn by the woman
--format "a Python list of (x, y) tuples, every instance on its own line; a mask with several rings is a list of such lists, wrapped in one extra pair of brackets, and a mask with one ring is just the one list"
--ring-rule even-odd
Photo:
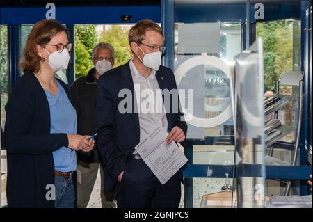
[(72, 176), (55, 177), (56, 208), (74, 208), (75, 189)]

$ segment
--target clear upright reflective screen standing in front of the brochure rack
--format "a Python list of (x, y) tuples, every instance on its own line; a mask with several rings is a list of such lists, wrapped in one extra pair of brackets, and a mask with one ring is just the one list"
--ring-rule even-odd
[(237, 206), (264, 207), (262, 39), (236, 56)]

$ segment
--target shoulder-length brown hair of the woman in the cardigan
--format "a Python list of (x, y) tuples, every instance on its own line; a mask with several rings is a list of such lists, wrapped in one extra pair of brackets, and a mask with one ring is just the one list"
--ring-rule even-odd
[(19, 68), (23, 72), (38, 72), (40, 69), (40, 62), (43, 61), (43, 58), (38, 55), (37, 45), (45, 47), (45, 45), (50, 42), (51, 38), (63, 31), (66, 33), (68, 38), (65, 26), (55, 20), (44, 19), (37, 22), (33, 26), (33, 29), (31, 29), (31, 33), (29, 33), (26, 40)]

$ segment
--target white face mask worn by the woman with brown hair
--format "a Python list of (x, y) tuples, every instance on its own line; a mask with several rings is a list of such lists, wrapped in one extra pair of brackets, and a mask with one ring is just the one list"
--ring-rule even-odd
[[(45, 49), (44, 47), (42, 47), (42, 49)], [(45, 51), (47, 51), (45, 49)], [(67, 49), (63, 49), (62, 52), (58, 52), (58, 51), (54, 51), (53, 53), (49, 53), (49, 51), (47, 51), (47, 53), (49, 54), (49, 58), (47, 62), (45, 60), (46, 63), (48, 63), (52, 69), (54, 70), (66, 70), (67, 66), (68, 66), (68, 62), (70, 61), (70, 54), (68, 53)]]

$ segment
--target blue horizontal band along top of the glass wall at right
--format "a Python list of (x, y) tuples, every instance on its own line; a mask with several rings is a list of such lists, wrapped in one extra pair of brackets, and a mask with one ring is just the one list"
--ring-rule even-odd
[[(257, 3), (257, 2), (255, 2)], [(298, 2), (262, 2), (264, 8), (264, 21), (278, 19), (300, 19)], [(247, 8), (250, 6), (250, 8)], [(175, 22), (256, 22), (254, 18), (255, 4), (250, 1), (242, 3), (175, 3)], [(246, 13), (249, 19), (247, 19)], [(222, 16), (221, 16), (222, 15)]]

